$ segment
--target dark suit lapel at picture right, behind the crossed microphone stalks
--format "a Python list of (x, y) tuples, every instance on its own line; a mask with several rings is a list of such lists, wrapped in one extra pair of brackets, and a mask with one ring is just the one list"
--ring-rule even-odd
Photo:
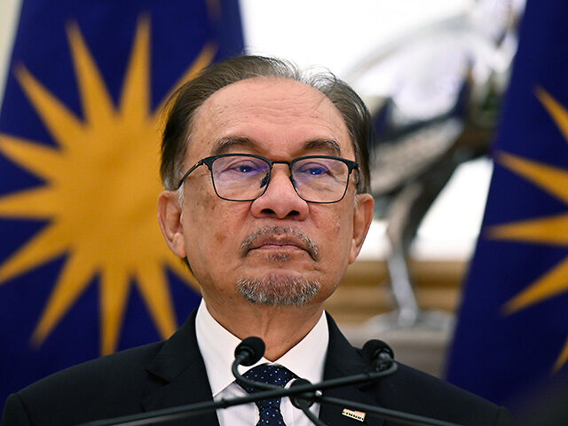
[[(329, 345), (327, 348), (326, 366), (324, 368), (324, 380), (344, 377), (346, 375), (359, 375), (367, 371), (367, 364), (361, 359), (359, 352), (351, 346), (335, 321), (327, 314), (327, 324), (329, 325)], [(359, 402), (377, 406), (377, 401), (369, 392), (365, 392), (364, 384), (344, 386), (341, 388), (324, 390), (323, 395), (333, 398), (342, 398), (348, 401)], [(322, 404), (319, 407), (319, 419), (327, 424), (357, 426), (366, 424), (368, 426), (381, 426), (384, 420), (367, 414), (365, 421), (350, 418), (343, 415), (343, 406), (333, 406)]]

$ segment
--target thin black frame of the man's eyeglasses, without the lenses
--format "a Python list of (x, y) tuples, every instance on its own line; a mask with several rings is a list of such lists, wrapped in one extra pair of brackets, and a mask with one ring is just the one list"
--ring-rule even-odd
[[(232, 200), (230, 198), (225, 198), (225, 197), (222, 197), (221, 195), (219, 195), (219, 193), (217, 193), (217, 187), (215, 186), (215, 177), (213, 176), (213, 162), (215, 162), (217, 160), (217, 158), (223, 158), (223, 157), (253, 157), (253, 158), (257, 158), (259, 160), (263, 160), (264, 162), (267, 162), (268, 166), (269, 166), (268, 182), (264, 186), (264, 191), (262, 193), (260, 193), (258, 196), (256, 196), (255, 198), (251, 198), (249, 200)], [(300, 195), (300, 193), (298, 193), (298, 190), (296, 188), (296, 182), (294, 181), (294, 177), (292, 176), (292, 166), (296, 162), (299, 162), (299, 161), (302, 161), (302, 160), (308, 160), (310, 158), (327, 158), (327, 159), (331, 159), (331, 160), (337, 160), (339, 162), (343, 162), (347, 166), (347, 169), (348, 169), (347, 184), (345, 185), (345, 190), (343, 191), (343, 194), (342, 194), (342, 196), (339, 200), (336, 200), (336, 201), (311, 201), (311, 200), (306, 200), (302, 195)], [(342, 157), (335, 157), (333, 155), (306, 155), (304, 157), (295, 158), (291, 162), (283, 162), (283, 161), (272, 162), (272, 160), (269, 160), (268, 158), (263, 157), (262, 155), (256, 155), (256, 154), (219, 154), (219, 155), (212, 155), (210, 157), (202, 158), (199, 162), (196, 162), (195, 164), (193, 164), (193, 166), (185, 172), (185, 175), (181, 179), (179, 179), (179, 183), (177, 184), (176, 189), (179, 189), (181, 187), (181, 185), (184, 185), (185, 179), (193, 172), (193, 170), (197, 169), (198, 167), (200, 167), (203, 164), (205, 164), (208, 167), (209, 172), (211, 173), (211, 182), (213, 183), (213, 189), (215, 190), (217, 197), (219, 197), (222, 200), (226, 200), (226, 201), (255, 201), (257, 198), (262, 197), (264, 195), (264, 193), (266, 192), (268, 185), (270, 185), (270, 180), (272, 178), (272, 166), (274, 164), (288, 164), (288, 169), (290, 170), (290, 181), (292, 182), (292, 186), (294, 186), (294, 191), (296, 191), (296, 194), (298, 195), (298, 197), (300, 197), (302, 200), (304, 200), (306, 202), (314, 202), (314, 203), (317, 203), (317, 204), (333, 204), (334, 202), (342, 201), (343, 197), (345, 197), (345, 194), (347, 193), (347, 188), (349, 187), (349, 181), (350, 181), (352, 171), (353, 170), (359, 171), (359, 163), (358, 162), (353, 162), (352, 160), (347, 160), (346, 158), (342, 158)], [(359, 177), (357, 177), (356, 180), (357, 180), (357, 182), (355, 182), (355, 185), (359, 185)]]

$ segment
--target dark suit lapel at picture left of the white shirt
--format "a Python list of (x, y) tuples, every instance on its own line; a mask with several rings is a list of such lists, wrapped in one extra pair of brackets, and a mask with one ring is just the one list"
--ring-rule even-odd
[[(195, 336), (195, 315), (196, 312), (193, 312), (164, 343), (152, 366), (146, 369), (157, 379), (142, 401), (146, 411), (212, 400), (209, 379)], [(211, 412), (175, 424), (218, 426), (219, 423), (217, 414)]]

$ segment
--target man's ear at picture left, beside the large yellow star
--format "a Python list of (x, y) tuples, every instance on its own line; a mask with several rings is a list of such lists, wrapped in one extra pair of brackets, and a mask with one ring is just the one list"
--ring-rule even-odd
[(171, 251), (185, 258), (184, 227), (176, 191), (164, 191), (158, 197), (158, 223)]

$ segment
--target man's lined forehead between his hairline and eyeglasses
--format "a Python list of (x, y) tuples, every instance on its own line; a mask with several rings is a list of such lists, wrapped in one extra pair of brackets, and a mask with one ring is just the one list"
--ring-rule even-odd
[(321, 141), (338, 148), (327, 154), (354, 157), (343, 116), (326, 95), (295, 80), (256, 77), (225, 86), (200, 106), (187, 156), (233, 148), (297, 156), (325, 147)]

